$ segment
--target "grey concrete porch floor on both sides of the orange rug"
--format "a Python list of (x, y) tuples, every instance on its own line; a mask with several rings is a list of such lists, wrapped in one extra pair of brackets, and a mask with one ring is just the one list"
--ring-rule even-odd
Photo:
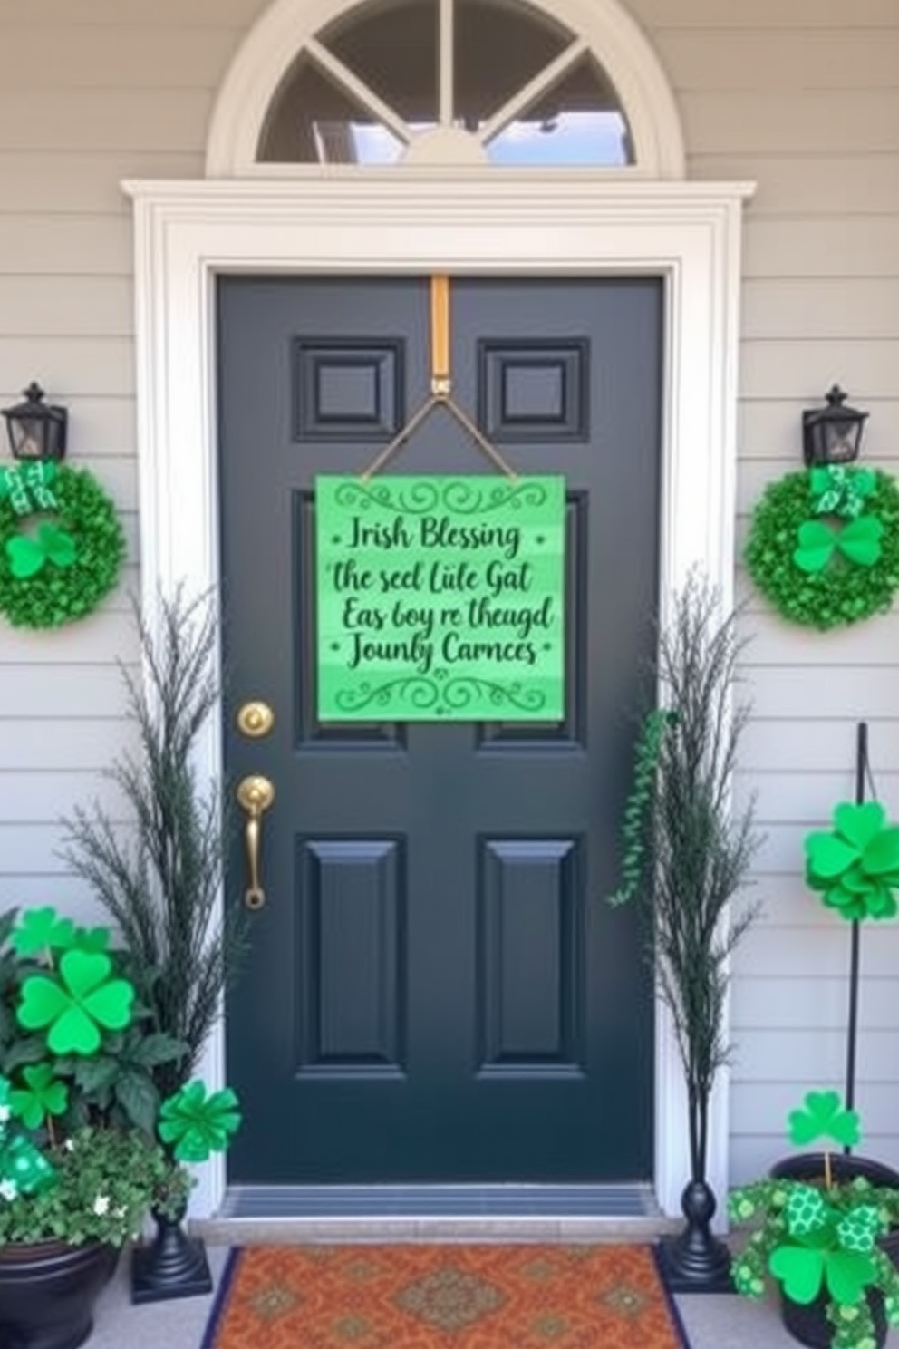
[[(209, 1263), (218, 1284), (225, 1246), (209, 1246)], [(214, 1296), (214, 1295), (213, 1295)], [(128, 1300), (127, 1264), (121, 1263), (97, 1307), (94, 1333), (88, 1349), (199, 1349), (213, 1296), (185, 1298), (132, 1307)], [(751, 1303), (737, 1296), (678, 1298), (690, 1349), (795, 1349), (782, 1327), (774, 1303)], [(899, 1349), (899, 1333), (891, 1331), (888, 1349)], [(259, 1349), (247, 1345), (245, 1349)], [(297, 1346), (302, 1349), (302, 1346)], [(596, 1349), (602, 1349), (597, 1345)], [(638, 1345), (633, 1349), (639, 1349)]]

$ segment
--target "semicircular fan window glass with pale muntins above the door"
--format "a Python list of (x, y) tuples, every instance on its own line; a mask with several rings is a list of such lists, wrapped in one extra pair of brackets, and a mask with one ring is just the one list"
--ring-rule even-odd
[(321, 27), (268, 105), (256, 162), (633, 163), (586, 40), (522, 0), (365, 0)]

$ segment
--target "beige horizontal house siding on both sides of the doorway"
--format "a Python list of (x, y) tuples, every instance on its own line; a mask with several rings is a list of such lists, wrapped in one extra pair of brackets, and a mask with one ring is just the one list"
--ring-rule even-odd
[[(70, 409), (73, 460), (115, 496), (123, 584), (58, 633), (0, 626), (0, 904), (88, 913), (59, 816), (108, 792), (131, 742), (117, 661), (137, 660), (133, 301), (120, 179), (202, 175), (214, 93), (259, 0), (0, 0), (0, 406), (39, 378)], [(741, 304), (737, 534), (799, 464), (805, 406), (840, 380), (871, 413), (865, 460), (899, 469), (896, 0), (631, 0), (678, 101), (689, 173), (752, 179)], [(35, 84), (39, 81), (39, 84)], [(737, 780), (767, 834), (763, 916), (735, 959), (732, 1178), (782, 1148), (803, 1089), (841, 1075), (848, 929), (805, 890), (802, 836), (853, 791), (871, 726), (898, 808), (899, 615), (790, 629), (751, 591)], [(115, 812), (115, 796), (105, 797)], [(868, 1151), (899, 1164), (899, 925), (865, 932), (859, 1105)]]

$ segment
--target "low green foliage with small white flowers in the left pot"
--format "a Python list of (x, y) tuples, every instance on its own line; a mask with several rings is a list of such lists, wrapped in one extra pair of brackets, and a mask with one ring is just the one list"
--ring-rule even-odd
[(0, 1244), (61, 1240), (120, 1246), (162, 1194), (183, 1199), (190, 1179), (163, 1149), (131, 1129), (85, 1128), (49, 1149), (53, 1184), (0, 1201)]

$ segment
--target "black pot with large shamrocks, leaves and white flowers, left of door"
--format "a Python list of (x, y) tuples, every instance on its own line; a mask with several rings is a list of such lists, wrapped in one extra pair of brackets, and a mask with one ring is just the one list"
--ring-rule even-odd
[[(159, 1033), (106, 928), (0, 917), (0, 1342), (75, 1349), (119, 1251), (190, 1187), (156, 1139)], [(171, 1109), (171, 1108), (170, 1108)]]

